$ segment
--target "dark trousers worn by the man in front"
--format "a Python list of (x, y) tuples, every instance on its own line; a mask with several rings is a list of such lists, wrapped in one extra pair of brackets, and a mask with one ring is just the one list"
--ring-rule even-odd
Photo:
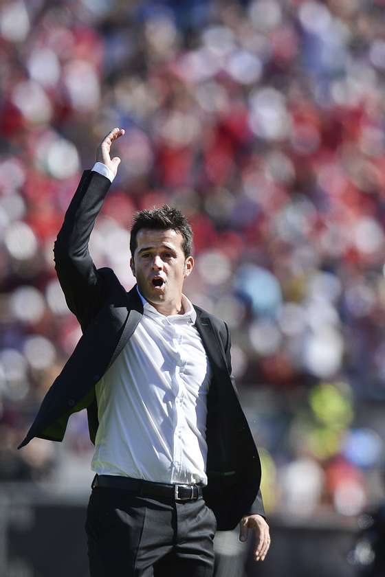
[(205, 501), (96, 487), (86, 521), (91, 577), (211, 577), (214, 514)]

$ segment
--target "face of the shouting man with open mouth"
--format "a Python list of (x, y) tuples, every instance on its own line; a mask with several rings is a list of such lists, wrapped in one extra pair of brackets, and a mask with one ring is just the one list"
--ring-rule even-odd
[(194, 266), (192, 256), (184, 256), (182, 243), (183, 236), (173, 229), (140, 229), (137, 233), (130, 265), (148, 302), (180, 306), (184, 279)]

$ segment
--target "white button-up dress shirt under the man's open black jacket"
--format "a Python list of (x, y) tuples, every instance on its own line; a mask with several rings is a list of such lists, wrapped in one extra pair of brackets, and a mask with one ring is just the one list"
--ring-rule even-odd
[(169, 316), (140, 296), (142, 320), (96, 385), (91, 468), (100, 475), (207, 484), (210, 365), (194, 326), (197, 313), (184, 295), (186, 312)]

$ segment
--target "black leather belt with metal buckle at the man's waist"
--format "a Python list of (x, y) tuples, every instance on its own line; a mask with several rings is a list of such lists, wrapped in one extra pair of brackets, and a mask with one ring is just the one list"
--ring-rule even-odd
[(94, 487), (107, 487), (115, 489), (126, 489), (137, 493), (141, 497), (166, 497), (168, 499), (181, 501), (197, 501), (202, 496), (200, 485), (183, 485), (166, 483), (153, 483), (143, 479), (132, 479), (131, 477), (117, 477), (115, 475), (95, 475), (92, 482)]

